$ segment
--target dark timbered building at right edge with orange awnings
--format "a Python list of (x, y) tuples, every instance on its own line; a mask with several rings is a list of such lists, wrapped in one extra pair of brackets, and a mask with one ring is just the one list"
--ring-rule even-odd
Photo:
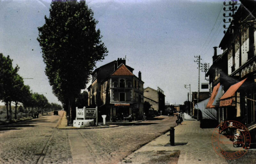
[[(212, 91), (216, 92), (218, 85), (224, 91), (218, 100), (220, 121), (237, 120), (250, 126), (256, 122), (256, 2), (240, 2), (219, 45), (223, 54), (213, 61), (207, 75)], [(212, 93), (211, 97), (216, 94)]]

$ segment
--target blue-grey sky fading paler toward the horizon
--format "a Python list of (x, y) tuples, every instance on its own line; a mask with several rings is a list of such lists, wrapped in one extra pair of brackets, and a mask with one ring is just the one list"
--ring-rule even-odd
[[(19, 65), (19, 74), (32, 92), (60, 104), (45, 75), (37, 27), (49, 16), (50, 0), (0, 0), (0, 53)], [(160, 87), (165, 101), (183, 104), (184, 84), (198, 90), (201, 63), (212, 64), (213, 48), (224, 36), (222, 0), (87, 0), (98, 20), (108, 55), (100, 67), (117, 58), (142, 73), (144, 88)], [(223, 51), (218, 48), (218, 54)], [(200, 73), (200, 83), (207, 83)], [(33, 79), (25, 79), (33, 78)], [(90, 84), (88, 84), (89, 86)], [(200, 91), (209, 91), (201, 90)]]

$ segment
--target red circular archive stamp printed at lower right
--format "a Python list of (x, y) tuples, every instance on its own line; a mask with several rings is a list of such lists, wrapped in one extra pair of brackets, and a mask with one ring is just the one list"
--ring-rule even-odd
[(214, 129), (212, 147), (221, 157), (229, 160), (243, 156), (251, 145), (251, 136), (246, 128), (237, 121), (225, 121)]

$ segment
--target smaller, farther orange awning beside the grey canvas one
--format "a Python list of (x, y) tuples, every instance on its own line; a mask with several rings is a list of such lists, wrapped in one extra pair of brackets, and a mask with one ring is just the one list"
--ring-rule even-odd
[(221, 96), (222, 96), (222, 86), (220, 86), (220, 83), (218, 83), (216, 86), (213, 87), (212, 94), (206, 108), (219, 107), (219, 104), (217, 102), (219, 98), (221, 98)]

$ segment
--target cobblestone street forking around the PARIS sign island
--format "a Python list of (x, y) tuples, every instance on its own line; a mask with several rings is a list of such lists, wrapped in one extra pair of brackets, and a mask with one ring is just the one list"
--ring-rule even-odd
[[(0, 126), (0, 163), (118, 163), (166, 132), (175, 117), (133, 126), (63, 130), (59, 115)], [(83, 158), (79, 156), (84, 152)]]

